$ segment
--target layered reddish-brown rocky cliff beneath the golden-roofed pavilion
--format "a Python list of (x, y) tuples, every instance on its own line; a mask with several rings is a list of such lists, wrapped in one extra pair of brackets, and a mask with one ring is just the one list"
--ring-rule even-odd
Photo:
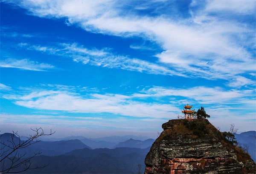
[(145, 158), (145, 174), (256, 173), (250, 155), (227, 141), (207, 119), (175, 119)]

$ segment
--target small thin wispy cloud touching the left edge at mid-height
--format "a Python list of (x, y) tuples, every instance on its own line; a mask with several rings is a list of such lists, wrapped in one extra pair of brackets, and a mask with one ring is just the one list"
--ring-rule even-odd
[(0, 61), (0, 67), (2, 68), (18, 68), (22, 70), (31, 70), (31, 71), (46, 71), (47, 69), (52, 69), (54, 66), (45, 63), (39, 63), (36, 61), (30, 61), (29, 59), (14, 59), (7, 58)]

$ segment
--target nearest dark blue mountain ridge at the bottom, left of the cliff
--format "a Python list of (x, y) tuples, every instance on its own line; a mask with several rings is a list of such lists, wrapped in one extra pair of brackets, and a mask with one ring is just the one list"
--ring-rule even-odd
[(150, 148), (99, 148), (79, 149), (60, 156), (38, 156), (33, 159), (33, 166), (49, 162), (46, 168), (26, 171), (25, 173), (102, 173), (136, 174), (141, 165), (145, 170), (144, 159)]

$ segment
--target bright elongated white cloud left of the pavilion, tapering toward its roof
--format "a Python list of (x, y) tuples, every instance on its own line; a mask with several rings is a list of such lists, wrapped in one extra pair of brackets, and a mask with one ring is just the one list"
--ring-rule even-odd
[[(91, 94), (83, 98), (65, 90), (41, 90), (27, 95), (5, 95), (15, 104), (43, 110), (64, 110), (75, 113), (114, 113), (135, 117), (168, 118), (178, 109), (169, 104), (135, 102), (131, 96), (117, 94)], [(83, 97), (82, 97), (83, 96)], [(172, 114), (173, 115), (173, 114)]]

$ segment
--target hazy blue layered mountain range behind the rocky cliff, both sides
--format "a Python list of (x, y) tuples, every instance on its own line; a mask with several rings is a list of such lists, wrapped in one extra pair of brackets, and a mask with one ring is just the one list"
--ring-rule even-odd
[[(4, 133), (1, 142), (8, 142), (12, 133)], [(111, 137), (113, 140), (111, 140)], [(256, 131), (236, 134), (240, 145), (248, 145), (249, 154), (256, 160)], [(127, 138), (123, 140), (124, 138)], [(140, 137), (142, 138), (142, 137)], [(144, 137), (145, 138), (145, 137)], [(20, 139), (13, 136), (17, 143)], [(26, 137), (23, 137), (26, 139)], [(144, 159), (154, 139), (133, 139), (126, 136), (109, 136), (100, 139), (90, 139), (84, 136), (70, 136), (64, 140), (41, 141), (19, 153), (26, 157), (34, 152), (42, 152), (33, 158), (32, 165), (44, 165), (46, 168), (26, 171), (26, 173), (138, 173), (145, 170)], [(122, 142), (119, 142), (121, 141)], [(21, 140), (23, 141), (23, 140)]]

